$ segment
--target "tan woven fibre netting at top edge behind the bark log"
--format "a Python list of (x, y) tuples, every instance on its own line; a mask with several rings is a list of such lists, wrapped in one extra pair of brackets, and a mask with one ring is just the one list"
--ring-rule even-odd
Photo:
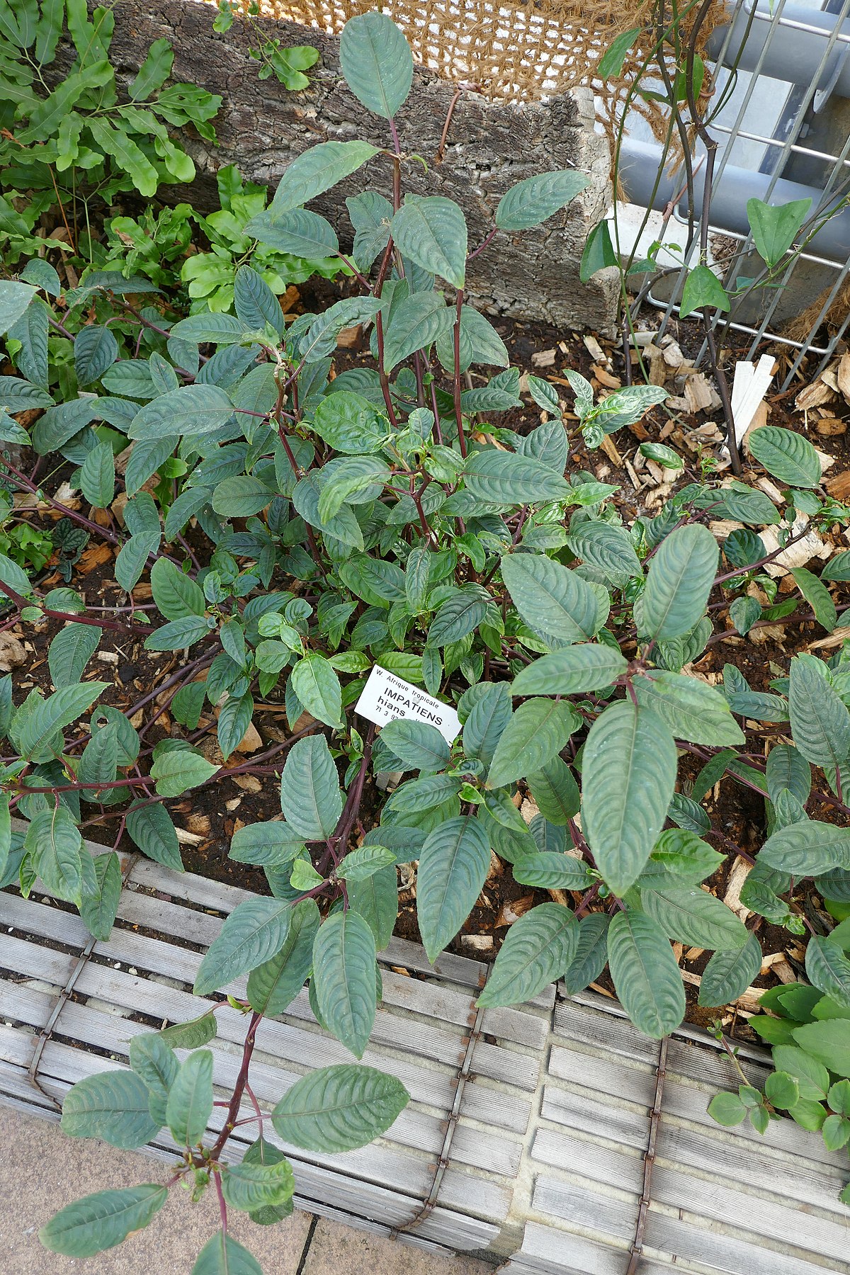
[[(339, 34), (349, 18), (380, 8), (407, 36), (414, 57), (443, 79), (473, 84), (488, 98), (537, 101), (586, 87), (601, 97), (610, 129), (618, 106), (641, 74), (656, 37), (645, 32), (627, 55), (616, 83), (603, 83), (595, 68), (610, 43), (626, 31), (651, 24), (659, 0), (259, 0), (260, 14)], [(723, 20), (725, 0), (715, 0), (700, 29), (698, 48)], [(691, 22), (696, 6), (689, 9)], [(669, 19), (668, 19), (669, 20)], [(687, 34), (688, 18), (682, 22)], [(651, 74), (651, 71), (650, 71)], [(654, 102), (632, 103), (656, 135), (666, 116)]]

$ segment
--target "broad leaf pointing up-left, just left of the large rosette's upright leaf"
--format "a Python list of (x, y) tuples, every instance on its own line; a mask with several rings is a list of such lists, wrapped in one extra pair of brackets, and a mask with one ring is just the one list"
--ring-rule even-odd
[(599, 598), (587, 581), (542, 553), (505, 556), (502, 579), (522, 620), (537, 631), (584, 643), (604, 623)]

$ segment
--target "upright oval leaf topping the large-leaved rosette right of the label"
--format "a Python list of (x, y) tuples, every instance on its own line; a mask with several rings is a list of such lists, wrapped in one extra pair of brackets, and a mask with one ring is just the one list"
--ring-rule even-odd
[(691, 632), (706, 609), (720, 550), (700, 523), (679, 527), (655, 553), (636, 608), (644, 638), (666, 641)]

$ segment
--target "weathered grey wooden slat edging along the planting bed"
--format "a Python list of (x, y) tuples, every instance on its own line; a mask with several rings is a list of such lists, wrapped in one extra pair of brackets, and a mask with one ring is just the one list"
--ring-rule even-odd
[[(247, 894), (143, 858), (124, 867), (119, 921), (93, 945), (41, 884), (29, 900), (0, 894), (0, 1100), (56, 1119), (76, 1080), (126, 1066), (134, 1034), (198, 1016), (191, 984), (203, 954)], [(404, 1228), (429, 1198), (472, 1053), (436, 1206), (400, 1238), (487, 1251), (507, 1258), (506, 1275), (626, 1275), (659, 1043), (636, 1033), (614, 1002), (548, 988), (521, 1009), (487, 1010), (470, 1046), (484, 965), (443, 954), (432, 969), (398, 938), (380, 959), (384, 1001), (363, 1061), (399, 1076), (412, 1102), (359, 1151), (284, 1146), (298, 1202), (373, 1230)], [(228, 991), (243, 993), (245, 980)], [(217, 1019), (214, 1082), (227, 1096), (246, 1020), (229, 1006)], [(264, 1020), (254, 1058), (252, 1088), (270, 1108), (311, 1067), (350, 1054), (321, 1031), (302, 992), (284, 1015)], [(762, 1051), (743, 1049), (742, 1063), (763, 1081)], [(772, 1122), (765, 1139), (720, 1128), (706, 1107), (735, 1084), (703, 1033), (686, 1025), (669, 1039), (636, 1275), (850, 1275), (850, 1210), (837, 1202), (850, 1177), (846, 1155), (827, 1154), (818, 1135), (790, 1121)], [(251, 1137), (232, 1140), (233, 1158)], [(173, 1150), (166, 1132), (150, 1148), (163, 1158)]]

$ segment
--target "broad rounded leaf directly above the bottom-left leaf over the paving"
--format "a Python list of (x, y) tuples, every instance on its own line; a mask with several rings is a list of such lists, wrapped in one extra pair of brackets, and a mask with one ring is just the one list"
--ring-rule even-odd
[(62, 1103), (62, 1132), (69, 1137), (99, 1137), (130, 1150), (144, 1146), (158, 1130), (148, 1111), (148, 1088), (131, 1071), (84, 1076)]

